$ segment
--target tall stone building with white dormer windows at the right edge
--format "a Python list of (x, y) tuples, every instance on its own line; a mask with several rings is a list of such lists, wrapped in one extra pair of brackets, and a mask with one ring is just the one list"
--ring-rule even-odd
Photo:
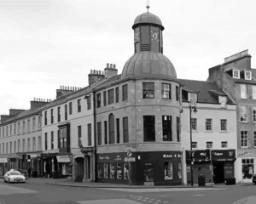
[(252, 181), (256, 162), (256, 70), (248, 50), (233, 54), (209, 69), (208, 81), (216, 82), (237, 105), (237, 181)]

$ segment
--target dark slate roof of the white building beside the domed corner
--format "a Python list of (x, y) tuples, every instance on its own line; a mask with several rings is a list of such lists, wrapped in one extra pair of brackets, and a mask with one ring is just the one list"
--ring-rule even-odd
[[(186, 79), (178, 79), (178, 82), (181, 83), (183, 90), (187, 92), (197, 93), (198, 103), (219, 104), (218, 96), (227, 96), (220, 88), (218, 88), (215, 82), (195, 81)], [(187, 99), (183, 99), (183, 101), (187, 101)], [(229, 97), (227, 103), (234, 104)]]

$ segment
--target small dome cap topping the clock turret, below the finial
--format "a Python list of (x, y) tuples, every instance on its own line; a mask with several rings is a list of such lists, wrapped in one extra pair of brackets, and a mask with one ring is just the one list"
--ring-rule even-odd
[(138, 15), (136, 17), (136, 19), (134, 20), (134, 24), (133, 24), (132, 28), (135, 28), (138, 25), (145, 24), (145, 23), (160, 26), (160, 28), (162, 30), (164, 30), (164, 26), (162, 25), (160, 18), (157, 15), (151, 14), (149, 12)]

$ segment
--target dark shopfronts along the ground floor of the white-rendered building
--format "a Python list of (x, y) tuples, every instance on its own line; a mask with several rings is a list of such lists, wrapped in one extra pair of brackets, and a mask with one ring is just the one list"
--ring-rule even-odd
[[(210, 156), (207, 150), (195, 150), (192, 155), (193, 178), (198, 183), (198, 176), (204, 175), (206, 182), (212, 182), (212, 169)], [(234, 162), (236, 161), (236, 150), (212, 150), (213, 182), (224, 183), (225, 178), (234, 178)], [(187, 179), (190, 183), (190, 152), (186, 150)]]

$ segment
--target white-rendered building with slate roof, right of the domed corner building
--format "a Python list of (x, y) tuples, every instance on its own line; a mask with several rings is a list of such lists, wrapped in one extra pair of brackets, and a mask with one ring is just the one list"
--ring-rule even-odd
[[(191, 162), (194, 183), (198, 183), (201, 174), (207, 183), (215, 184), (224, 183), (226, 178), (237, 177), (236, 104), (215, 82), (179, 82), (182, 84), (183, 98), (181, 141), (184, 184), (191, 184)], [(195, 99), (195, 104), (191, 103), (191, 99)]]

